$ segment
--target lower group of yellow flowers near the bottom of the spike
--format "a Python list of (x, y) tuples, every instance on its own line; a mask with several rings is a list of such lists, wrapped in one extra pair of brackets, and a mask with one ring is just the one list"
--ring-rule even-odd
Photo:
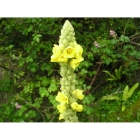
[[(82, 92), (82, 90), (76, 89), (72, 92), (72, 95), (74, 95), (75, 98), (82, 100), (84, 98)], [(75, 101), (69, 102), (68, 97), (64, 93), (58, 92), (55, 99), (56, 101), (60, 102), (60, 104), (57, 105), (57, 109), (61, 113), (59, 116), (59, 120), (64, 118), (63, 112), (67, 109), (68, 106), (70, 106), (73, 110), (77, 112), (81, 112), (83, 110), (83, 105), (78, 104)]]

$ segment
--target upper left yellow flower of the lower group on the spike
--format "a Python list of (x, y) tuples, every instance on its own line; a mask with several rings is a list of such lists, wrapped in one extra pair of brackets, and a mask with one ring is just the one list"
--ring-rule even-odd
[(68, 97), (61, 92), (58, 92), (58, 95), (56, 96), (56, 101), (60, 102), (60, 103), (67, 103), (68, 104)]

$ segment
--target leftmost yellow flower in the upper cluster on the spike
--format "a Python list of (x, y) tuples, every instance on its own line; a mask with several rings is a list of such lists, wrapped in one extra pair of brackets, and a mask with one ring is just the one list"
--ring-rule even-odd
[(58, 57), (61, 55), (62, 50), (61, 50), (62, 46), (58, 46), (56, 44), (54, 44), (53, 47), (53, 55), (51, 56), (51, 62), (58, 62)]

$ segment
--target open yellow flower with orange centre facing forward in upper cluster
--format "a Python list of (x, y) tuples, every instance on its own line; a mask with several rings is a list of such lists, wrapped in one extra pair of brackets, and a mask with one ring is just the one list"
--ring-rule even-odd
[(75, 48), (67, 47), (67, 48), (65, 48), (63, 54), (66, 58), (73, 58), (74, 54), (75, 54)]

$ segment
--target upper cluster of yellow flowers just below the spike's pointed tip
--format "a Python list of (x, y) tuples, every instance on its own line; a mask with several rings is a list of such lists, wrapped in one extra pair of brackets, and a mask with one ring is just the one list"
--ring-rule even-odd
[(66, 48), (63, 45), (54, 44), (52, 52), (51, 62), (68, 62), (73, 69), (84, 60), (82, 57), (83, 48), (76, 41), (74, 41), (73, 47)]

